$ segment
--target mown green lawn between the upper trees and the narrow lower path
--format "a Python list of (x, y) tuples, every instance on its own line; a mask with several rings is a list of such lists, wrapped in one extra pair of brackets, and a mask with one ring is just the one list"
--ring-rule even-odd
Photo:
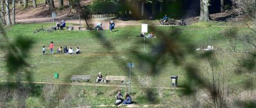
[[(147, 72), (143, 71), (147, 69), (141, 69), (142, 67), (139, 65), (141, 64), (140, 60), (131, 53), (131, 50), (134, 49), (143, 51), (143, 43), (140, 43), (143, 38), (137, 37), (140, 34), (140, 26), (116, 28), (116, 32), (109, 32), (108, 30), (33, 32), (42, 25), (44, 28), (51, 26), (51, 24), (19, 24), (7, 28), (10, 40), (15, 39), (16, 36), (25, 36), (35, 41), (33, 48), (29, 50), (30, 56), (28, 58), (28, 63), (31, 65), (29, 67), (31, 71), (29, 76), (33, 76), (33, 81), (70, 83), (72, 75), (90, 75), (93, 76), (92, 82), (94, 82), (98, 72), (102, 72), (103, 75), (128, 76), (128, 62), (134, 62), (135, 64), (135, 67), (132, 68), (133, 84), (136, 85), (136, 78), (138, 76), (147, 74)], [(212, 44), (215, 48), (228, 48), (228, 41), (223, 36), (225, 27), (189, 25), (184, 27), (156, 27), (156, 29), (164, 31), (166, 34), (173, 29), (180, 29), (182, 31), (181, 36), (195, 44), (198, 48), (209, 44)], [(148, 31), (152, 30), (149, 29)], [(104, 39), (96, 37), (96, 32), (100, 32)], [(158, 36), (158, 34), (155, 35)], [(113, 49), (109, 50), (106, 48), (102, 40), (109, 41)], [(55, 45), (54, 55), (49, 54), (49, 49), (46, 51), (47, 55), (42, 55), (42, 46), (48, 48), (51, 41)], [(159, 40), (153, 38), (146, 41), (157, 43)], [(56, 54), (56, 49), (60, 46), (68, 46), (68, 48), (72, 47), (74, 49), (78, 46), (82, 53), (80, 55)], [(146, 45), (146, 52), (150, 52), (150, 46)], [(188, 59), (188, 61), (194, 61), (193, 58)], [(161, 72), (159, 72), (160, 74), (154, 76), (154, 79), (168, 82), (170, 76), (177, 75), (179, 76), (179, 85), (182, 85), (186, 81), (184, 69), (182, 68), (182, 66), (177, 67), (173, 65), (172, 58), (170, 58), (166, 67), (163, 67)], [(54, 72), (60, 74), (58, 80), (53, 79)], [(26, 75), (25, 73), (23, 74)], [(6, 80), (7, 72), (1, 72), (1, 75), (0, 79)], [(25, 77), (22, 77), (22, 81), (26, 81)], [(164, 83), (164, 86), (168, 87), (170, 84)]]

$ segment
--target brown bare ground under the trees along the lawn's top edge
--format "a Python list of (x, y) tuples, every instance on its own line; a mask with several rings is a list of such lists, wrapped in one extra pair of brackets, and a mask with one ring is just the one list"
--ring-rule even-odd
[[(87, 0), (87, 1), (81, 1), (81, 5), (86, 5), (88, 3), (92, 3), (93, 0)], [(55, 0), (54, 4), (56, 7), (58, 7), (58, 1)], [(68, 1), (64, 2), (65, 5), (65, 9), (64, 10), (56, 10), (54, 12), (56, 12), (57, 18), (55, 19), (55, 21), (58, 20), (63, 20), (67, 17), (68, 14)], [(43, 7), (44, 4), (38, 4), (38, 8), (32, 8), (29, 7), (26, 10), (22, 8), (22, 6), (18, 6), (17, 8), (17, 15), (16, 15), (16, 22), (19, 23), (40, 23), (40, 22), (52, 22), (52, 18), (51, 18), (51, 13), (52, 11), (49, 11), (49, 7), (48, 5), (46, 5), (46, 7)], [(231, 19), (232, 17), (234, 17), (234, 13), (232, 13), (232, 11), (226, 11), (224, 13), (216, 13), (216, 14), (211, 14), (211, 18), (214, 21), (217, 22), (226, 22), (229, 19)], [(110, 18), (99, 18), (99, 19), (88, 19), (88, 25), (90, 27), (95, 27), (95, 25), (97, 25), (99, 22), (102, 22), (102, 27), (103, 29), (108, 29), (109, 28), (109, 19)], [(193, 18), (188, 18), (186, 19), (188, 24), (193, 24), (198, 22), (199, 17), (193, 17)], [(70, 15), (68, 15), (67, 23), (72, 23), (72, 24), (79, 24), (79, 17), (78, 17), (78, 13), (70, 13)], [(129, 20), (129, 21), (122, 21), (122, 20), (114, 20), (116, 27), (124, 27), (127, 25), (140, 25), (141, 24), (141, 20)], [(179, 22), (179, 20), (177, 20), (177, 22)], [(150, 21), (151, 24), (154, 25), (160, 25), (158, 20), (153, 20)], [(82, 27), (87, 27), (86, 26), (86, 22), (85, 20), (83, 20), (83, 18), (81, 19), (81, 24)]]

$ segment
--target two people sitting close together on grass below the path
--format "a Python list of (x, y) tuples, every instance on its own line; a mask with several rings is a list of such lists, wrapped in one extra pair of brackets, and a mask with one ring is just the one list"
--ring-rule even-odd
[(123, 105), (132, 104), (132, 98), (129, 95), (129, 93), (126, 93), (125, 99), (123, 99), (123, 95), (122, 95), (121, 91), (118, 91), (118, 93), (116, 94), (115, 97), (116, 97), (115, 105), (120, 105), (122, 103), (123, 103)]

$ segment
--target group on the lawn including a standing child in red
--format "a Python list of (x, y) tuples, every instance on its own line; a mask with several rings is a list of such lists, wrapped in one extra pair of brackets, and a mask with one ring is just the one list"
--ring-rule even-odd
[[(51, 41), (51, 44), (49, 45), (51, 54), (53, 54), (53, 48), (54, 48), (54, 44), (53, 44), (53, 41)], [(45, 46), (43, 46), (42, 51), (43, 51), (43, 55), (45, 55), (45, 51), (46, 51)], [(57, 48), (57, 53), (63, 53), (63, 51), (64, 53), (68, 53), (70, 55), (81, 53), (79, 47), (76, 47), (76, 51), (74, 51), (71, 47), (68, 49), (67, 46), (64, 46), (63, 49), (62, 49), (62, 46)]]

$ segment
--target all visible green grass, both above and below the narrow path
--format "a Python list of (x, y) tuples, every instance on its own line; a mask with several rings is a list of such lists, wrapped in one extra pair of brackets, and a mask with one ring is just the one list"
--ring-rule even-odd
[[(216, 25), (216, 26), (214, 26)], [(223, 51), (229, 48), (229, 43), (227, 37), (225, 37), (225, 30), (229, 27), (220, 27), (223, 24), (195, 24), (189, 26), (157, 26), (157, 30), (161, 30), (164, 34), (169, 34), (173, 30), (180, 29), (180, 36), (186, 39), (184, 43), (193, 43), (196, 48), (201, 46), (213, 45), (214, 48), (221, 49)], [(33, 39), (35, 42), (33, 47), (29, 49), (29, 57), (26, 59), (30, 67), (28, 70), (31, 71), (30, 74), (27, 72), (22, 72), (21, 80), (27, 81), (25, 76), (32, 76), (33, 81), (42, 81), (42, 82), (60, 82), (60, 83), (70, 83), (70, 78), (72, 75), (90, 75), (92, 76), (91, 83), (95, 82), (98, 72), (102, 72), (105, 76), (129, 76), (129, 68), (127, 67), (128, 62), (133, 62), (135, 67), (132, 68), (132, 86), (139, 86), (137, 81), (138, 76), (144, 76), (149, 73), (148, 69), (150, 68), (147, 64), (141, 62), (137, 58), (132, 50), (143, 52), (143, 38), (137, 37), (140, 34), (140, 26), (127, 26), (127, 27), (117, 27), (115, 32), (109, 32), (109, 30), (103, 31), (70, 31), (70, 30), (57, 30), (54, 32), (38, 32), (34, 33), (34, 30), (40, 29), (41, 26), (44, 28), (51, 27), (51, 24), (18, 24), (12, 27), (6, 28), (7, 35), (12, 41), (17, 36), (24, 36), (29, 39)], [(148, 31), (152, 31), (149, 29)], [(239, 32), (246, 31), (245, 28), (239, 29)], [(97, 37), (95, 34), (100, 33), (102, 37)], [(146, 42), (153, 44), (159, 43), (160, 33), (155, 33), (156, 38), (146, 39)], [(170, 37), (172, 37), (170, 35)], [(42, 46), (46, 48), (49, 46), (51, 41), (54, 42), (54, 54), (49, 54), (49, 49), (47, 49), (47, 55), (42, 55)], [(107, 48), (103, 43), (108, 41), (111, 46)], [(239, 43), (238, 43), (239, 44)], [(81, 50), (79, 55), (67, 55), (67, 54), (56, 54), (56, 50), (60, 46), (68, 46), (76, 48), (77, 46)], [(150, 54), (151, 46), (146, 44), (145, 55)], [(196, 49), (195, 48), (195, 49)], [(241, 46), (241, 48), (243, 48)], [(196, 52), (200, 53), (200, 52)], [(166, 64), (164, 67), (161, 67), (160, 72), (155, 76), (152, 76), (154, 85), (153, 86), (162, 86), (170, 87), (170, 76), (177, 75), (179, 76), (179, 86), (184, 86), (184, 83), (188, 80), (186, 76), (186, 71), (184, 65), (175, 65), (173, 64), (173, 58), (167, 57)], [(223, 62), (230, 64), (234, 61), (234, 58), (230, 57), (228, 52), (222, 53), (219, 57)], [(199, 65), (199, 67), (204, 67), (207, 62), (202, 60), (195, 60), (195, 57), (188, 56), (186, 61)], [(3, 62), (0, 63), (4, 65)], [(141, 66), (142, 65), (142, 66)], [(201, 70), (200, 70), (201, 71)], [(204, 73), (204, 69), (202, 69)], [(54, 72), (60, 74), (59, 79), (54, 79)], [(0, 71), (1, 80), (15, 80), (16, 76), (7, 77), (8, 72)], [(243, 79), (246, 79), (246, 75), (236, 74), (232, 75), (230, 83), (234, 86), (240, 85), (243, 83)], [(90, 83), (90, 84), (91, 84)], [(118, 82), (111, 82), (118, 86)], [(71, 88), (70, 88), (71, 89)], [(93, 86), (83, 86), (81, 87), (83, 93), (86, 93), (86, 99), (89, 99), (88, 103), (90, 105), (100, 105), (100, 104), (113, 104), (115, 98), (108, 99), (115, 94), (116, 90), (120, 88), (112, 87), (96, 87)], [(122, 88), (124, 89), (124, 88)], [(94, 91), (93, 91), (94, 90)], [(107, 90), (107, 91), (106, 91)], [(110, 91), (110, 92), (109, 92)], [(135, 97), (136, 102), (140, 104), (148, 104), (150, 101), (145, 100), (144, 91), (134, 88), (132, 90), (133, 97)], [(172, 97), (172, 93), (175, 92), (178, 95), (180, 94), (179, 90), (164, 90), (166, 97)], [(96, 93), (96, 94), (95, 94)], [(171, 94), (170, 94), (171, 93)], [(88, 95), (90, 94), (90, 95)], [(93, 95), (94, 94), (94, 95)], [(141, 95), (142, 94), (142, 95)], [(84, 95), (84, 94), (83, 94)], [(97, 98), (97, 97), (102, 98)], [(82, 96), (81, 96), (82, 97)], [(39, 98), (40, 99), (40, 98)], [(172, 99), (171, 99), (172, 100)], [(37, 100), (28, 100), (28, 101), (37, 101)], [(40, 101), (40, 100), (38, 100)], [(75, 100), (74, 100), (75, 101)], [(77, 101), (77, 100), (76, 100)], [(162, 103), (154, 101), (156, 103)], [(32, 102), (33, 103), (33, 102)], [(76, 102), (75, 102), (76, 103)], [(76, 106), (76, 105), (75, 105)]]

